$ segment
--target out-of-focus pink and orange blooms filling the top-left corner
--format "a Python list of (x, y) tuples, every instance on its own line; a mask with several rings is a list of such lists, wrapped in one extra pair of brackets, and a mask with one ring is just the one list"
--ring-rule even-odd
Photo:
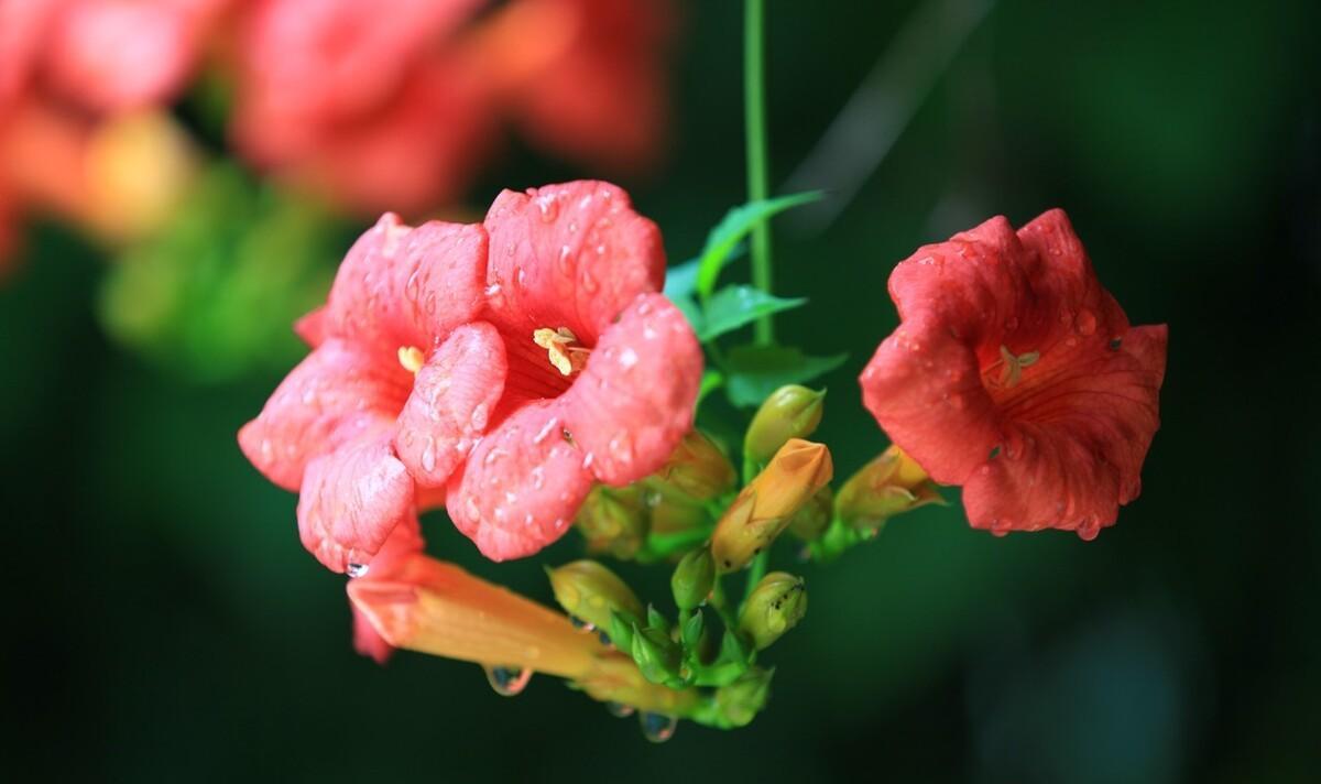
[(0, 0), (0, 198), (9, 216), (0, 255), (13, 247), (16, 216), (34, 209), (122, 233), (111, 225), (118, 208), (135, 205), (98, 190), (98, 130), (173, 100), (234, 1)]

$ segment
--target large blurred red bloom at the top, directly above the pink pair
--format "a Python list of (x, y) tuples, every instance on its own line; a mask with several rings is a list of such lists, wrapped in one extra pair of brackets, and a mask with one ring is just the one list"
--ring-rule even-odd
[(365, 213), (457, 197), (503, 118), (617, 172), (664, 128), (667, 0), (263, 0), (240, 24), (231, 134), (255, 164)]

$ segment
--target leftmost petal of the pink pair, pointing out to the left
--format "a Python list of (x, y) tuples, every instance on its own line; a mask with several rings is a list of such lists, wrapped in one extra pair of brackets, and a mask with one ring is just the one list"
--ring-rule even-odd
[(398, 361), (379, 362), (361, 345), (326, 340), (243, 426), (239, 447), (267, 479), (297, 490), (310, 460), (392, 422), (411, 385)]

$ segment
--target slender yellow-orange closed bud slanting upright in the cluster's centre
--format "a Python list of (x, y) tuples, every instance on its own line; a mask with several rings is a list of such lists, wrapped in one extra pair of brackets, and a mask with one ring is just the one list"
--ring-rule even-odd
[(808, 498), (830, 483), (834, 465), (824, 444), (793, 439), (734, 498), (711, 535), (716, 570), (742, 568), (769, 547)]

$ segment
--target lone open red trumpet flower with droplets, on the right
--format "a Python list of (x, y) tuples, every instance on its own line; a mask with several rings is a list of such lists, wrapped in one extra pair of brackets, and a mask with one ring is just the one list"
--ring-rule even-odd
[(1137, 497), (1160, 424), (1168, 329), (1129, 327), (1069, 218), (992, 218), (890, 275), (901, 324), (863, 402), (970, 522), (1092, 538)]

